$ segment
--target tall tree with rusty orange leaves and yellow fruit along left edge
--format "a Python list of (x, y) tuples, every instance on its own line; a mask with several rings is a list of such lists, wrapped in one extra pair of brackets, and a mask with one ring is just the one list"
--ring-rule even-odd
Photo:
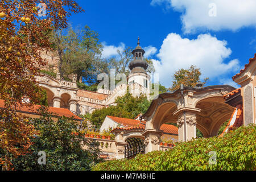
[[(0, 2), (0, 99), (5, 101), (5, 109), (0, 110), (0, 168), (10, 170), (10, 156), (26, 154), (36, 134), (30, 121), (16, 110), (40, 98), (40, 92), (35, 92), (36, 76), (44, 65), (39, 52), (51, 48), (47, 32), (66, 28), (71, 13), (84, 10), (68, 0)], [(46, 7), (44, 17), (38, 3)], [(30, 102), (22, 102), (24, 98)]]

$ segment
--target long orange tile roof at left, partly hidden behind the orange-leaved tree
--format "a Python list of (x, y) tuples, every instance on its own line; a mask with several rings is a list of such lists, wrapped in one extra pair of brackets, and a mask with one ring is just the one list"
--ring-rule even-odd
[[(17, 111), (21, 111), (23, 113), (29, 113), (29, 114), (36, 114), (38, 115), (37, 109), (39, 109), (40, 105), (32, 105), (30, 107), (28, 106), (20, 106), (18, 104)], [(3, 100), (0, 100), (0, 109), (5, 108), (5, 102)], [(65, 117), (74, 117), (76, 120), (82, 120), (82, 118), (78, 117), (77, 115), (73, 114), (70, 110), (64, 109), (64, 108), (57, 108), (57, 107), (48, 107), (48, 111), (50, 113), (56, 114), (57, 117), (65, 116)]]

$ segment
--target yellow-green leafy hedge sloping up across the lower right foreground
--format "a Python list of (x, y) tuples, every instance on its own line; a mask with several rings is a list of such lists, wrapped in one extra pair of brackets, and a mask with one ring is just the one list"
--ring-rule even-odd
[[(255, 170), (255, 144), (256, 126), (251, 125), (230, 131), (221, 138), (177, 143), (171, 151), (154, 151), (130, 160), (99, 163), (93, 170)], [(209, 164), (210, 151), (216, 152), (216, 164)]]

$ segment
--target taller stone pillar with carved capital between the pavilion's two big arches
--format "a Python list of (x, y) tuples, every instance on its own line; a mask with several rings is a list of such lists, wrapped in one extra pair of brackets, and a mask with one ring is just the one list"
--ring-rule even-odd
[(200, 109), (183, 107), (174, 112), (178, 117), (179, 142), (196, 138), (196, 113)]

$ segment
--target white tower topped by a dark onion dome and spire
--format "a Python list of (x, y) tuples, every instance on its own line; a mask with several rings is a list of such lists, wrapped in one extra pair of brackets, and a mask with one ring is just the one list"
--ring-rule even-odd
[(133, 96), (139, 96), (141, 93), (148, 95), (150, 81), (150, 76), (146, 72), (148, 63), (143, 59), (145, 51), (139, 46), (139, 38), (137, 47), (131, 53), (133, 53), (133, 60), (129, 64), (131, 72), (128, 76), (128, 84), (133, 84), (132, 88), (137, 90)]

